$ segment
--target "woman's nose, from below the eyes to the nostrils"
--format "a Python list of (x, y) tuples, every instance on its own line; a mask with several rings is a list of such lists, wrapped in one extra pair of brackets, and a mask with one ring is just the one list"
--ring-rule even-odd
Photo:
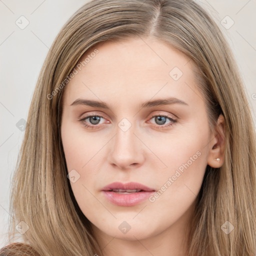
[(110, 164), (120, 169), (129, 169), (141, 166), (144, 161), (143, 143), (138, 138), (134, 126), (126, 131), (116, 127), (116, 134), (110, 143), (108, 160)]

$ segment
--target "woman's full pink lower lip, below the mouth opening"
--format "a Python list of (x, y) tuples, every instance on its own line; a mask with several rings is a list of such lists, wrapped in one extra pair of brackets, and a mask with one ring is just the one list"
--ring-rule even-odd
[(142, 191), (128, 194), (103, 191), (107, 200), (119, 206), (133, 206), (147, 199), (154, 191)]

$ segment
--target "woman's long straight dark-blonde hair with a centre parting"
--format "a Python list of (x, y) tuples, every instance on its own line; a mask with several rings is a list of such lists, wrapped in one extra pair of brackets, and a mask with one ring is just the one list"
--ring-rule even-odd
[[(256, 136), (245, 88), (222, 32), (192, 0), (92, 0), (62, 27), (46, 56), (29, 108), (11, 192), (15, 226), (43, 256), (102, 255), (66, 177), (60, 138), (63, 81), (90, 47), (106, 40), (152, 36), (183, 52), (196, 67), (208, 121), (225, 118), (225, 159), (207, 165), (190, 231), (188, 255), (256, 253)], [(62, 86), (60, 86), (62, 84)], [(228, 222), (226, 222), (228, 221)], [(222, 229), (232, 225), (228, 234)]]

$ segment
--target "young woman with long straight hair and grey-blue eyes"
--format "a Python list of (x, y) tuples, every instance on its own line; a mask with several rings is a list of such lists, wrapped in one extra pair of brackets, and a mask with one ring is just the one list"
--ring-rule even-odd
[(24, 244), (0, 255), (255, 255), (248, 99), (195, 2), (86, 3), (49, 50), (27, 123), (9, 234)]

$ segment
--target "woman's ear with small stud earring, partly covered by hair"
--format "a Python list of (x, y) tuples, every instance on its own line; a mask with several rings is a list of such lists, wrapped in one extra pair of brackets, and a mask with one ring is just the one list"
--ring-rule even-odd
[[(218, 116), (215, 126), (214, 138), (210, 142), (210, 149), (207, 158), (207, 164), (211, 167), (218, 168), (224, 162), (225, 154), (225, 119), (222, 114)], [(216, 159), (219, 158), (219, 161)]]

